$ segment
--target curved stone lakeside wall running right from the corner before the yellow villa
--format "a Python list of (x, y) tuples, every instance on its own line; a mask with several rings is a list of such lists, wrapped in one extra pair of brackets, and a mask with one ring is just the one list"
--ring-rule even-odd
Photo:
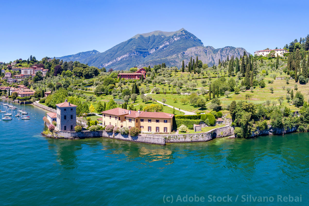
[(147, 134), (146, 137), (165, 137), (166, 143), (175, 143), (175, 142), (205, 142), (210, 141), (215, 137), (226, 137), (231, 135), (234, 135), (234, 128), (231, 126), (225, 126), (212, 129), (205, 133), (171, 134), (171, 135)]

